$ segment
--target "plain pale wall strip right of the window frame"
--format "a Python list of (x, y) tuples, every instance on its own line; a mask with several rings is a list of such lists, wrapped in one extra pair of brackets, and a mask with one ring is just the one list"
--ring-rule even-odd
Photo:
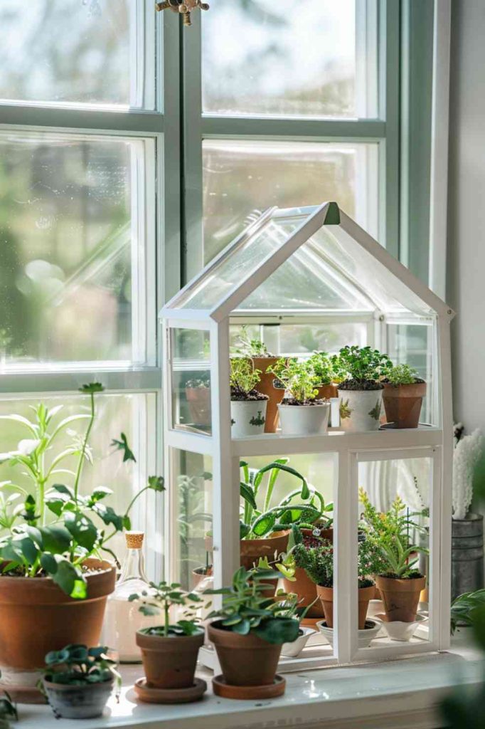
[(453, 0), (450, 105), (454, 418), (485, 432), (485, 0)]

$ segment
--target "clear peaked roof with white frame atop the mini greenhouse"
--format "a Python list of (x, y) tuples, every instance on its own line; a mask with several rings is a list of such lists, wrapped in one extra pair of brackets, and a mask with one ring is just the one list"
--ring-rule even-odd
[(235, 310), (295, 309), (452, 314), (333, 202), (269, 208), (161, 313), (222, 321)]

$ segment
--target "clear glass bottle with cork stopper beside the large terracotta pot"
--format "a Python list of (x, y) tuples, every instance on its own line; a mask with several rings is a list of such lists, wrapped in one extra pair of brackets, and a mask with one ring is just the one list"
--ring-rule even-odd
[(127, 555), (122, 571), (106, 605), (103, 625), (103, 643), (118, 654), (119, 663), (141, 663), (141, 652), (135, 642), (136, 631), (157, 625), (157, 615), (147, 616), (139, 612), (138, 602), (130, 602), (133, 593), (149, 591), (143, 560), (143, 531), (126, 531)]

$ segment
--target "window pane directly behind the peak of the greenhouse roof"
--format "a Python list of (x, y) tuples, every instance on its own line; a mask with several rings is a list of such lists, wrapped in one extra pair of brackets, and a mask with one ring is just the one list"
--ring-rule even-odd
[(206, 262), (275, 205), (335, 200), (376, 234), (377, 144), (206, 140), (203, 155)]

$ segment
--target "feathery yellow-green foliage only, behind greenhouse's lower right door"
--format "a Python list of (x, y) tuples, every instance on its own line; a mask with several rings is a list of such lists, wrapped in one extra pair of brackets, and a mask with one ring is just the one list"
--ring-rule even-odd
[(417, 552), (427, 554), (428, 551), (411, 541), (411, 531), (422, 530), (412, 519), (417, 512), (409, 513), (399, 496), (395, 497), (388, 512), (378, 512), (363, 488), (359, 489), (359, 501), (363, 505), (362, 528), (366, 533), (366, 541), (374, 544), (382, 557), (382, 566), (374, 574), (401, 578), (422, 577), (414, 569), (417, 557), (411, 556)]

